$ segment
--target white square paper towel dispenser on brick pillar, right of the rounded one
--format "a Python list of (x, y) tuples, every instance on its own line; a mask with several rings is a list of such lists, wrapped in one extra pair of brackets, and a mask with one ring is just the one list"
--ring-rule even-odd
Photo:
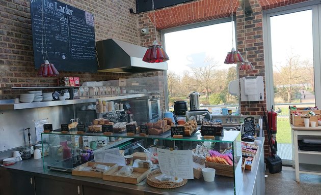
[(249, 76), (240, 78), (239, 80), (241, 102), (264, 100), (263, 77)]

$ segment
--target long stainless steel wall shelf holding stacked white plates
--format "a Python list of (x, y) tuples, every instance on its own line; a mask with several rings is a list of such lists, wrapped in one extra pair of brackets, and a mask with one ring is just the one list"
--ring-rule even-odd
[(14, 104), (14, 100), (0, 101), (0, 110), (19, 110), (29, 108), (42, 108), (50, 106), (63, 106), (73, 104), (84, 104), (84, 103), (96, 103), (97, 99), (104, 101), (123, 100), (132, 98), (141, 98), (148, 96), (148, 93), (129, 94), (129, 95), (117, 95), (103, 98), (91, 98), (91, 99), (75, 99), (75, 100), (63, 100), (63, 101), (49, 101), (49, 102), (32, 102), (32, 103), (19, 103)]

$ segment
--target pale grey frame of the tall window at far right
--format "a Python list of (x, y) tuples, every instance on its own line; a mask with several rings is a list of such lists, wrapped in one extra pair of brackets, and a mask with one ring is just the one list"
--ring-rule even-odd
[[(271, 44), (271, 23), (273, 16), (290, 14), (300, 11), (312, 11), (312, 42), (313, 42), (313, 66), (314, 66), (314, 92), (315, 105), (321, 106), (321, 39), (319, 38), (321, 29), (321, 4), (319, 1), (310, 1), (298, 3), (290, 6), (279, 7), (263, 11), (263, 40), (264, 40), (264, 63), (265, 63), (265, 87), (266, 104), (268, 108), (274, 105), (274, 81), (273, 81), (273, 63), (272, 63), (272, 44)], [(320, 21), (320, 23), (319, 23)]]

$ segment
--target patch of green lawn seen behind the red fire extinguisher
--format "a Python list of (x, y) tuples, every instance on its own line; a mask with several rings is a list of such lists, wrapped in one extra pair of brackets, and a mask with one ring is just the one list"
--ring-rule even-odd
[(280, 144), (290, 144), (291, 127), (288, 118), (278, 118), (277, 121), (277, 142)]

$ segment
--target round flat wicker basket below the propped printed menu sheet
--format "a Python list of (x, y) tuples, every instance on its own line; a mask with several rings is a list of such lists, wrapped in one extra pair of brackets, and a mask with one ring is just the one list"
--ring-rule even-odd
[(187, 179), (183, 179), (181, 182), (172, 182), (172, 181), (161, 182), (158, 179), (155, 179), (155, 177), (157, 177), (158, 175), (161, 175), (161, 174), (162, 174), (162, 172), (159, 169), (150, 172), (147, 175), (147, 180), (146, 180), (147, 184), (150, 186), (153, 186), (153, 187), (157, 187), (157, 188), (171, 189), (171, 188), (183, 186), (188, 181)]

